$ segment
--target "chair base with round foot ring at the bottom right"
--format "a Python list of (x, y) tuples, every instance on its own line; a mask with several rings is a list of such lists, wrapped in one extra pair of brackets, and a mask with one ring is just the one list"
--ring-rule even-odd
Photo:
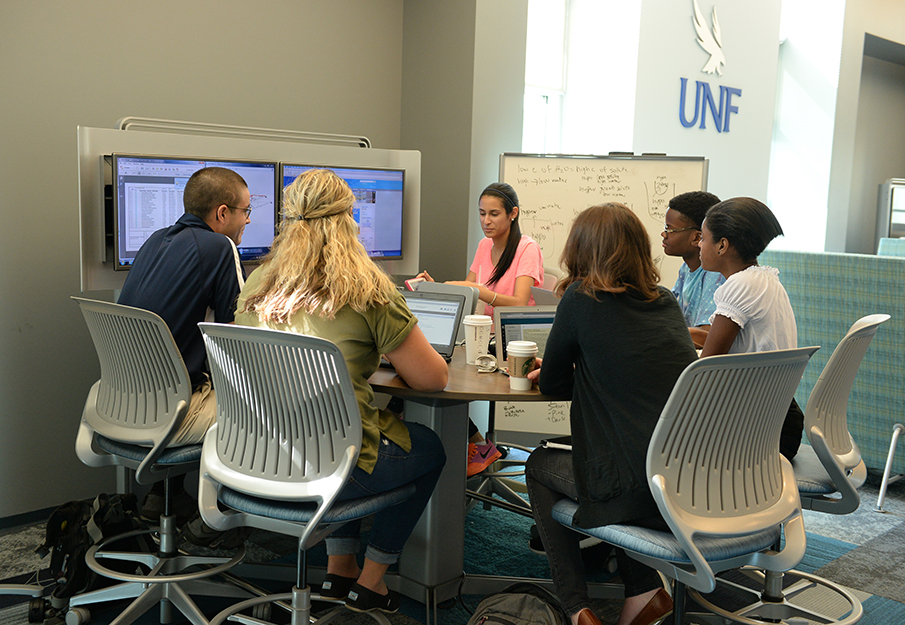
[[(714, 604), (697, 590), (689, 588), (687, 592), (694, 601), (705, 609), (710, 610), (713, 614), (696, 613), (694, 618), (686, 615), (685, 620), (694, 623), (719, 623), (720, 625), (727, 621), (744, 625), (763, 625), (765, 621), (788, 623), (790, 625), (804, 622), (852, 625), (860, 621), (863, 616), (864, 610), (857, 597), (842, 586), (822, 577), (811, 575), (810, 573), (802, 573), (801, 571), (788, 571), (789, 575), (801, 579), (782, 589), (778, 593), (778, 597), (771, 599), (763, 589), (771, 586), (781, 587), (782, 573), (767, 572), (764, 574), (763, 571), (751, 567), (741, 569), (740, 572), (757, 582), (759, 589), (749, 588), (744, 584), (729, 581), (722, 577), (717, 577), (717, 589), (730, 589), (738, 593), (738, 595), (745, 598), (747, 605), (735, 610), (726, 609)], [(796, 600), (800, 599), (802, 593), (818, 587), (831, 591), (847, 604), (847, 611), (841, 617), (828, 616), (796, 602)], [(821, 601), (821, 603), (823, 605), (828, 604), (827, 601)]]

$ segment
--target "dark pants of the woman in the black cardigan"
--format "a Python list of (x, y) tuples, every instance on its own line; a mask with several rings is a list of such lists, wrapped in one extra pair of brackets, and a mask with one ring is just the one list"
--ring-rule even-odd
[[(528, 456), (525, 464), (525, 481), (528, 497), (534, 512), (534, 522), (547, 560), (556, 594), (566, 614), (575, 614), (591, 607), (584, 563), (581, 560), (579, 542), (584, 537), (553, 519), (553, 505), (563, 497), (578, 501), (578, 490), (572, 472), (572, 452), (538, 447)], [(634, 525), (666, 528), (663, 519), (632, 521)], [(625, 585), (625, 596), (635, 597), (660, 587), (656, 572), (616, 549), (619, 576)]]

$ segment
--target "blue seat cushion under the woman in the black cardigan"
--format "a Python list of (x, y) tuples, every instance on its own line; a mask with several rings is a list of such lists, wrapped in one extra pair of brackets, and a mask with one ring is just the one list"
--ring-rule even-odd
[[(553, 506), (553, 518), (578, 532), (599, 538), (626, 551), (633, 551), (669, 562), (690, 562), (672, 532), (653, 530), (635, 525), (603, 525), (594, 528), (574, 527), (572, 518), (577, 510), (578, 504), (575, 501), (561, 499)], [(718, 562), (772, 547), (779, 540), (779, 536), (780, 530), (776, 528), (736, 538), (700, 536), (695, 538), (694, 544), (706, 560)]]

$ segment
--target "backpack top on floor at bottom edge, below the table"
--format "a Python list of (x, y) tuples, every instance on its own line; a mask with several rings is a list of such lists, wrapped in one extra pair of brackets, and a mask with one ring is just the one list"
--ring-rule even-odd
[(519, 582), (478, 604), (468, 625), (567, 625), (559, 601), (545, 588)]

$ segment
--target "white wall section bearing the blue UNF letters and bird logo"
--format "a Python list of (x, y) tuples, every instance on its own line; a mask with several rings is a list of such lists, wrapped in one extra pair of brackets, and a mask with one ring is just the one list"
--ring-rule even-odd
[[(710, 159), (708, 190), (721, 198), (766, 198), (773, 134), (780, 0), (698, 0), (709, 27), (716, 6), (726, 64), (722, 76), (705, 74), (709, 59), (696, 42), (692, 0), (644, 0), (635, 96), (634, 151)], [(741, 89), (728, 132), (713, 119), (684, 128), (679, 121), (680, 77), (688, 79), (686, 119), (693, 115), (695, 81)], [(718, 104), (718, 102), (717, 102)]]

